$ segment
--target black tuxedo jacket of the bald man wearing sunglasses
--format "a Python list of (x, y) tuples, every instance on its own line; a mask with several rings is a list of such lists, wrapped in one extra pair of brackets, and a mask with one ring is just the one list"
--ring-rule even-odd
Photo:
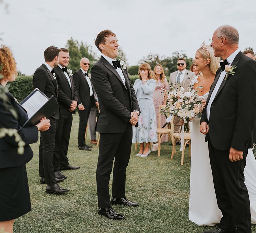
[[(78, 105), (83, 104), (85, 108), (91, 106), (90, 87), (81, 69), (74, 72), (73, 79), (77, 90)], [(94, 103), (97, 102), (94, 95), (92, 98)]]

